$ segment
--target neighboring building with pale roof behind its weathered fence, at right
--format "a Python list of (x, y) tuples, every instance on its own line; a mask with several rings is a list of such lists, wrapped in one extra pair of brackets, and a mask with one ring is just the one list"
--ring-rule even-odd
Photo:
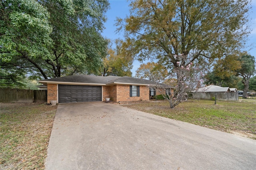
[(193, 98), (195, 99), (208, 99), (217, 97), (218, 100), (238, 100), (238, 91), (235, 88), (220, 87), (217, 85), (209, 85), (206, 87), (199, 88), (197, 91), (193, 91)]

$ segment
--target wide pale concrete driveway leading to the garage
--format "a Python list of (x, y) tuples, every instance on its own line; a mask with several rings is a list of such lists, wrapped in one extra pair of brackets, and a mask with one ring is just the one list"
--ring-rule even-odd
[(103, 102), (60, 104), (45, 167), (249, 170), (256, 140)]

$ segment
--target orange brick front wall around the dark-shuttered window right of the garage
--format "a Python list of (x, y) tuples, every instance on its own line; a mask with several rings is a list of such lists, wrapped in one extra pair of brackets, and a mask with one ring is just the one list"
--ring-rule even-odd
[(140, 86), (140, 96), (130, 97), (130, 85), (116, 85), (116, 102), (118, 101), (148, 101), (149, 88)]

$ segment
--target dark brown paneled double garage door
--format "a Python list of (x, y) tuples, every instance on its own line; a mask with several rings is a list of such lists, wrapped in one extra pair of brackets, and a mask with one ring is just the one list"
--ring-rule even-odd
[(102, 101), (101, 86), (59, 85), (59, 103)]

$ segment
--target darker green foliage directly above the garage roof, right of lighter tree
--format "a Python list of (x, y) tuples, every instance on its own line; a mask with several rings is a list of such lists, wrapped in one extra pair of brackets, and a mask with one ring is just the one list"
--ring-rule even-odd
[[(107, 41), (100, 35), (109, 8), (106, 0), (42, 1), (50, 13), (54, 45), (52, 58), (46, 60), (48, 77), (72, 74), (98, 74), (106, 56)], [(48, 71), (47, 71), (48, 72)], [(47, 73), (46, 72), (46, 73)]]

